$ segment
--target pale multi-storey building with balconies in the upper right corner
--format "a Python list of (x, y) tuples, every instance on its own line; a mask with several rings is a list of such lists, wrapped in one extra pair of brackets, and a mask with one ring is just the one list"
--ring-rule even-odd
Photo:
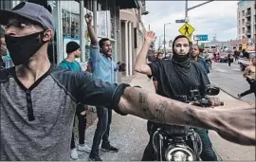
[(256, 42), (256, 2), (240, 1), (237, 8), (237, 36)]

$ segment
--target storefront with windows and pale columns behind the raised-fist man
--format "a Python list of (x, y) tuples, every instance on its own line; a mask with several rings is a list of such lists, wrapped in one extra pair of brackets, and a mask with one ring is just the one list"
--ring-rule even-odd
[[(18, 3), (22, 1), (28, 0), (16, 0), (16, 1), (1, 1), (0, 7), (1, 9), (11, 9), (16, 6)], [(116, 6), (116, 0), (113, 1), (105, 1), (104, 3), (107, 4), (107, 7), (97, 3), (93, 0), (88, 1), (57, 1), (51, 0), (47, 1), (50, 3), (51, 11), (54, 17), (54, 24), (56, 27), (55, 31), (55, 39), (52, 45), (49, 47), (48, 54), (49, 59), (52, 63), (60, 63), (66, 57), (65, 54), (65, 44), (69, 41), (76, 41), (82, 46), (82, 58), (78, 59), (78, 61), (82, 64), (82, 67), (86, 67), (87, 61), (89, 59), (89, 40), (86, 39), (86, 25), (84, 21), (84, 15), (87, 12), (91, 12), (94, 14), (94, 26), (95, 31), (98, 35), (99, 40), (104, 38), (109, 38), (113, 44), (114, 51), (113, 51), (113, 60), (115, 62), (128, 62), (128, 74), (125, 75), (132, 75), (134, 74), (133, 64), (135, 62), (136, 57), (134, 57), (135, 53), (137, 53), (137, 45), (135, 44), (135, 28), (137, 28), (138, 37), (137, 39), (141, 39), (141, 33), (138, 28), (138, 24), (140, 21), (140, 12), (137, 9), (127, 9), (126, 18), (123, 19), (122, 12), (119, 11), (119, 7)], [(36, 2), (37, 3), (37, 2)], [(86, 3), (86, 4), (83, 4)], [(96, 4), (96, 5), (95, 5)], [(84, 8), (84, 6), (86, 8)], [(100, 12), (105, 12), (103, 16), (99, 16)], [(125, 12), (125, 11), (124, 11)], [(96, 14), (97, 13), (97, 14)], [(99, 13), (99, 14), (98, 14)], [(98, 15), (98, 16), (97, 16)], [(101, 14), (102, 15), (102, 14)], [(110, 15), (110, 16), (109, 16)], [(106, 18), (102, 21), (102, 18)], [(109, 18), (110, 17), (110, 18)], [(96, 21), (95, 21), (96, 20)], [(121, 21), (127, 20), (127, 36), (123, 35), (122, 33), (122, 24)], [(102, 23), (103, 22), (103, 23)], [(107, 27), (105, 27), (107, 26)], [(143, 27), (143, 25), (142, 25)], [(102, 31), (104, 30), (107, 31)], [(141, 27), (140, 27), (141, 28)], [(102, 33), (106, 33), (105, 35)], [(125, 40), (125, 37), (129, 39), (129, 41), (125, 41), (124, 45), (122, 40)], [(128, 44), (128, 45), (126, 45)], [(141, 45), (140, 41), (137, 43)], [(125, 59), (122, 56), (122, 51), (125, 49), (125, 45), (128, 48), (125, 51), (129, 52), (130, 58)], [(126, 52), (124, 52), (126, 54)], [(51, 56), (52, 55), (52, 56)], [(127, 61), (126, 61), (127, 60)], [(118, 81), (120, 81), (120, 76), (118, 76)]]

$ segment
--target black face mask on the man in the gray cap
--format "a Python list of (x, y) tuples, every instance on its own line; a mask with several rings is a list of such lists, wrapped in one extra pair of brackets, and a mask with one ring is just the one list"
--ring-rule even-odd
[(39, 37), (43, 36), (44, 32), (41, 31), (23, 37), (5, 35), (9, 56), (15, 65), (27, 64), (29, 59), (45, 44)]

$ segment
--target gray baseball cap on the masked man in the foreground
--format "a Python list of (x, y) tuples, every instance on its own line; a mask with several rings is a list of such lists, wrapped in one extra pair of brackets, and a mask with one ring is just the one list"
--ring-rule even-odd
[(45, 29), (54, 31), (52, 14), (41, 5), (35, 3), (22, 2), (13, 9), (0, 10), (0, 24), (7, 25), (9, 18), (14, 15), (19, 15), (33, 22), (40, 24)]

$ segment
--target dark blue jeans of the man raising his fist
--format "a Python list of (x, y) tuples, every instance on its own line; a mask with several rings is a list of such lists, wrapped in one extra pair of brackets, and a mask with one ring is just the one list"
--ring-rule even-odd
[[(109, 130), (112, 120), (112, 109), (97, 107), (98, 124), (93, 137), (91, 155), (99, 155), (99, 147), (109, 146)], [(102, 140), (102, 143), (101, 143)]]

